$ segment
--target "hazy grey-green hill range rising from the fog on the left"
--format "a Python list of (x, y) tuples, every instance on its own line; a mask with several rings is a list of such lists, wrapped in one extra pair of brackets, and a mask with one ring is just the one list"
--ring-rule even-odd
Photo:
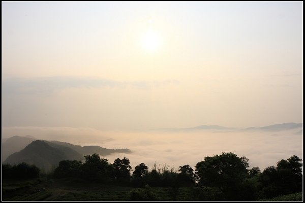
[[(9, 138), (6, 143), (6, 145), (3, 145), (3, 151), (6, 152), (7, 158), (3, 163), (18, 164), (26, 162), (35, 164), (45, 171), (51, 170), (52, 167), (58, 165), (59, 161), (65, 159), (83, 161), (84, 156), (93, 153), (105, 156), (111, 153), (131, 152), (129, 149), (106, 149), (99, 146), (81, 147), (58, 141), (33, 141), (32, 138), (19, 136)], [(14, 146), (14, 143), (16, 146)], [(26, 146), (27, 143), (29, 144)], [(9, 147), (13, 149), (8, 149)], [(20, 149), (22, 147), (24, 149)]]

